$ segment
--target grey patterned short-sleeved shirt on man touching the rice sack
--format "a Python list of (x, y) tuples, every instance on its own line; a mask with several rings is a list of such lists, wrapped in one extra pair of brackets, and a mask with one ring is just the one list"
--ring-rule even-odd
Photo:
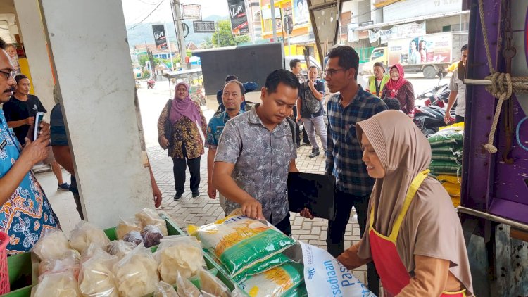
[[(297, 151), (289, 122), (284, 119), (270, 131), (258, 118), (257, 107), (225, 124), (215, 162), (234, 164), (234, 182), (262, 204), (266, 220), (272, 217), (277, 224), (288, 214), (289, 163)], [(225, 213), (240, 207), (229, 200), (225, 204)]]

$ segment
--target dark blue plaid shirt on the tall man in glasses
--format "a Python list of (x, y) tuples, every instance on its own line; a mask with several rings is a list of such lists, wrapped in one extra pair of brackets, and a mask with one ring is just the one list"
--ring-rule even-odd
[(369, 177), (361, 158), (356, 122), (386, 110), (386, 104), (360, 86), (352, 102), (343, 108), (341, 94), (327, 103), (328, 133), (325, 173), (337, 179), (337, 189), (355, 196), (370, 194), (375, 179)]

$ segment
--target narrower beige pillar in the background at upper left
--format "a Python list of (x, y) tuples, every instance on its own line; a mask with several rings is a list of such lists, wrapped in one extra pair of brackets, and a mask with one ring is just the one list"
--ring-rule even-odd
[[(24, 42), (27, 63), (30, 64), (34, 94), (39, 97), (46, 110), (51, 112), (51, 108), (55, 105), (54, 79), (49, 63), (39, 4), (37, 0), (14, 0), (14, 2), (20, 36)], [(46, 115), (46, 119), (49, 120), (49, 113)]]

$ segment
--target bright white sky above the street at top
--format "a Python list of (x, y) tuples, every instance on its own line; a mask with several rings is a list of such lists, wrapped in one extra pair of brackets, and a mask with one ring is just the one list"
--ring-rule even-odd
[[(161, 3), (163, 1), (163, 3)], [(161, 5), (143, 23), (158, 23), (172, 21), (170, 0), (121, 0), (125, 23), (131, 25), (142, 21), (158, 4)], [(200, 4), (202, 18), (209, 15), (229, 15), (227, 0), (184, 0), (184, 4)]]

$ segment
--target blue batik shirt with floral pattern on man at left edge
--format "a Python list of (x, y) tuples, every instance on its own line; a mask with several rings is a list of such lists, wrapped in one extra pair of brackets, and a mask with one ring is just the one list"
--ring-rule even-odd
[[(4, 177), (20, 157), (22, 148), (1, 111), (0, 144), (0, 177)], [(0, 231), (9, 236), (8, 255), (30, 251), (46, 229), (53, 228), (60, 228), (57, 217), (30, 171), (0, 208)]]

